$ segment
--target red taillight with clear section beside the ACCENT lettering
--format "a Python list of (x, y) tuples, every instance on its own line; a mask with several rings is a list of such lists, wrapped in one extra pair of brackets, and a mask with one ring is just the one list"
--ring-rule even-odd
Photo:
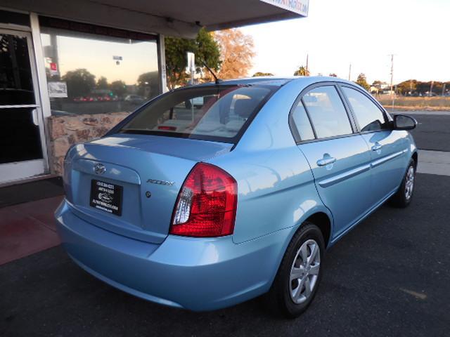
[(184, 181), (176, 200), (170, 234), (221, 237), (233, 234), (238, 184), (217, 166), (199, 163)]

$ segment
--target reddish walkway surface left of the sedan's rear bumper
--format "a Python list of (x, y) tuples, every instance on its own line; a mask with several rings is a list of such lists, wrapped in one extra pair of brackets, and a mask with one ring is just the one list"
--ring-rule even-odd
[(53, 220), (63, 196), (0, 209), (0, 265), (60, 244)]

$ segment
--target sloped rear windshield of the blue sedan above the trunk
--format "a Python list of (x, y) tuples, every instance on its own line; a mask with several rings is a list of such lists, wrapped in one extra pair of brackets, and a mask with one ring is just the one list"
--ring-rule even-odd
[(120, 132), (236, 143), (275, 86), (199, 86), (141, 108)]

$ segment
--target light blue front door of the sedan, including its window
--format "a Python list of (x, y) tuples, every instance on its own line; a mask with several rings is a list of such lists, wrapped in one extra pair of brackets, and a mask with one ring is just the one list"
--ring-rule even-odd
[(408, 161), (407, 133), (392, 130), (387, 115), (368, 93), (350, 86), (341, 88), (356, 126), (371, 148), (371, 197), (376, 204), (397, 190), (401, 183)]

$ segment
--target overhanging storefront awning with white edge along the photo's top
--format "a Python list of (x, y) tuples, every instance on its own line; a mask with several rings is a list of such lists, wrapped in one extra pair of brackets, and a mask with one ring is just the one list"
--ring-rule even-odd
[(307, 16), (309, 0), (3, 0), (1, 6), (98, 25), (194, 37), (203, 26), (216, 30)]

